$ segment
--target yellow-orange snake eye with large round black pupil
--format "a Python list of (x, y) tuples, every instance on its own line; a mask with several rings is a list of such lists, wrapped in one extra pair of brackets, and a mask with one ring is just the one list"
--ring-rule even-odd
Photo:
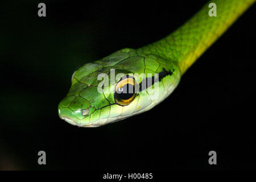
[(135, 88), (133, 77), (123, 77), (115, 86), (115, 102), (121, 106), (129, 105), (136, 97)]

